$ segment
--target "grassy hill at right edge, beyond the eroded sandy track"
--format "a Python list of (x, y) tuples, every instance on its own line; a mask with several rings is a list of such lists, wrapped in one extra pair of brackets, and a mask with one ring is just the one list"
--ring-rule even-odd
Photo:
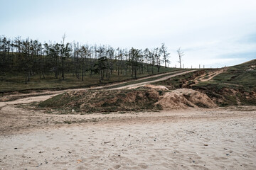
[(256, 105), (256, 60), (227, 67), (225, 72), (192, 89), (207, 94), (219, 106)]

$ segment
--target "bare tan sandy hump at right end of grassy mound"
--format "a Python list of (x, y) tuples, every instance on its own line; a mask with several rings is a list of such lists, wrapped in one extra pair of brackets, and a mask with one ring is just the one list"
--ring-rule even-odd
[(179, 109), (179, 108), (213, 108), (213, 103), (206, 94), (192, 89), (176, 89), (174, 91), (166, 92), (164, 96), (156, 102), (161, 108), (165, 110)]

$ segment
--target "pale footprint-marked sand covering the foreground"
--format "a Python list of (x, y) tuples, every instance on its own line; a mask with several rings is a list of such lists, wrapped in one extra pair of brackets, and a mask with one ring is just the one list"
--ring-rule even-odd
[(256, 169), (255, 107), (76, 116), (1, 135), (0, 169)]

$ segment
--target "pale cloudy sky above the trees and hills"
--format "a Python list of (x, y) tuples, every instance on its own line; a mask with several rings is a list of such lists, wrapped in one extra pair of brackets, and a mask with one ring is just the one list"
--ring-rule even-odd
[(255, 0), (0, 0), (0, 35), (154, 49), (169, 67), (225, 67), (256, 58)]

